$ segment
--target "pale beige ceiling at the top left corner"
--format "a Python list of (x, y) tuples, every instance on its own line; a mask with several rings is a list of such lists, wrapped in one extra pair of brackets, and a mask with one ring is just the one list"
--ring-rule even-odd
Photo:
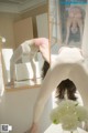
[(44, 4), (46, 1), (47, 0), (0, 0), (0, 12), (20, 13)]

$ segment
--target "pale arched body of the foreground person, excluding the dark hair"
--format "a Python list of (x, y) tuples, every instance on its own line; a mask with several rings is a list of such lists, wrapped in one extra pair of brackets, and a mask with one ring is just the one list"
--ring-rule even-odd
[(34, 122), (36, 123), (43, 112), (44, 105), (53, 90), (65, 79), (72, 80), (88, 108), (88, 68), (79, 49), (64, 48), (48, 70), (34, 109)]

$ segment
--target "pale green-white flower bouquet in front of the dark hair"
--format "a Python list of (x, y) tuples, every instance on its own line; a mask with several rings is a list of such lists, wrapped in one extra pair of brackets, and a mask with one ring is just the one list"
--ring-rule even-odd
[(88, 120), (88, 111), (75, 101), (65, 100), (52, 110), (51, 120), (54, 124), (62, 124), (63, 130), (73, 133), (81, 122)]

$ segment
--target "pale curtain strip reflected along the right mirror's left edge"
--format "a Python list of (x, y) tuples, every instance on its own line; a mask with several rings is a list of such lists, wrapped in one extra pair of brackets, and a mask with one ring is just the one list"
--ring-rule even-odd
[(48, 0), (48, 23), (51, 47), (62, 44), (62, 21), (59, 0)]

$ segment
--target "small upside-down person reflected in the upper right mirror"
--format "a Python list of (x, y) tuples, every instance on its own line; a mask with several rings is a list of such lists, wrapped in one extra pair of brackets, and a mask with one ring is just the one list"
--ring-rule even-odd
[(82, 11), (79, 7), (70, 7), (68, 11), (68, 18), (67, 18), (67, 34), (65, 43), (68, 44), (69, 34), (77, 33), (79, 30), (80, 32), (80, 41), (82, 39), (82, 29), (84, 29), (84, 20), (82, 20)]

